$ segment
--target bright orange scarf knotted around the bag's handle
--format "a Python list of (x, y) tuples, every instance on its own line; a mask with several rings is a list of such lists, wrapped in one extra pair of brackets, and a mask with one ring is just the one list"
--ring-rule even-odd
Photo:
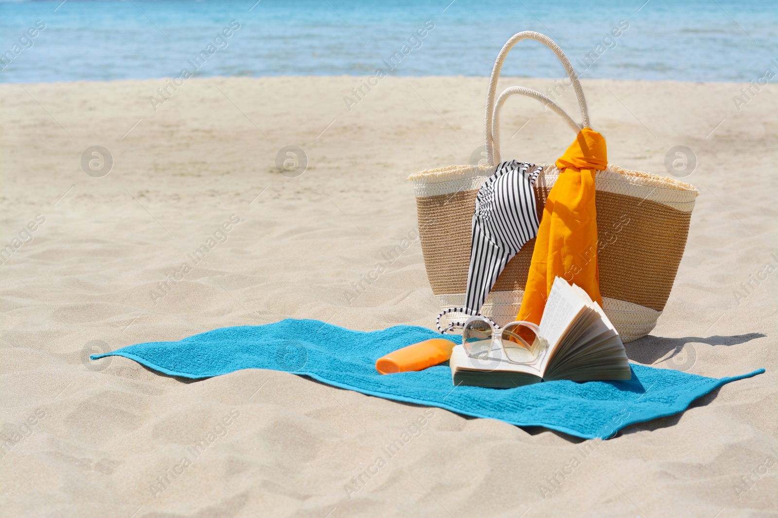
[(556, 161), (559, 178), (545, 202), (517, 320), (540, 324), (555, 277), (602, 305), (594, 177), (608, 166), (605, 138), (585, 127)]

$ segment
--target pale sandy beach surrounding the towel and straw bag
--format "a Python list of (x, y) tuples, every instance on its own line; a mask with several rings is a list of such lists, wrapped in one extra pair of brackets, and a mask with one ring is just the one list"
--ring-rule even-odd
[[(384, 78), (345, 103), (361, 81), (0, 85), (0, 247), (11, 247), (0, 515), (778, 516), (774, 85), (734, 103), (746, 85), (583, 81), (611, 162), (666, 175), (669, 149), (696, 155), (685, 256), (654, 332), (626, 345), (630, 360), (709, 377), (767, 370), (682, 415), (584, 441), (270, 370), (191, 382), (86, 360), (289, 317), (433, 328), (407, 177), (470, 161), (488, 78)], [(503, 78), (498, 91), (509, 85), (554, 81)], [(558, 102), (578, 118), (572, 89)], [(503, 158), (551, 163), (573, 139), (530, 99), (510, 99), (501, 119)], [(105, 176), (104, 164), (82, 167), (92, 146), (110, 152)], [(276, 169), (286, 146), (307, 156), (300, 176)], [(395, 245), (403, 253), (356, 292)], [(419, 416), (422, 433), (349, 492)], [(216, 440), (177, 468), (208, 433)], [(559, 478), (582, 447), (592, 453)], [(169, 470), (179, 475), (160, 490)]]

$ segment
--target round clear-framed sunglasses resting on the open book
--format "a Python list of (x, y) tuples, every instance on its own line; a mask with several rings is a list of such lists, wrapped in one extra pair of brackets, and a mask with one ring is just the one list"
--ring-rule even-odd
[(462, 347), (471, 358), (486, 360), (499, 341), (503, 357), (510, 363), (536, 363), (545, 356), (548, 341), (532, 322), (510, 322), (502, 329), (482, 316), (470, 317), (462, 329)]

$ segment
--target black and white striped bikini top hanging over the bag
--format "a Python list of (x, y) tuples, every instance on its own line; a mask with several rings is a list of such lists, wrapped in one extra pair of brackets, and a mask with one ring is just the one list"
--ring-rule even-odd
[[(534, 183), (542, 166), (527, 162), (502, 162), (495, 173), (478, 189), (473, 214), (470, 269), (464, 308), (450, 308), (447, 313), (479, 315), (489, 291), (508, 261), (521, 247), (538, 234), (538, 210)], [(446, 330), (462, 327), (464, 322), (450, 322)]]

